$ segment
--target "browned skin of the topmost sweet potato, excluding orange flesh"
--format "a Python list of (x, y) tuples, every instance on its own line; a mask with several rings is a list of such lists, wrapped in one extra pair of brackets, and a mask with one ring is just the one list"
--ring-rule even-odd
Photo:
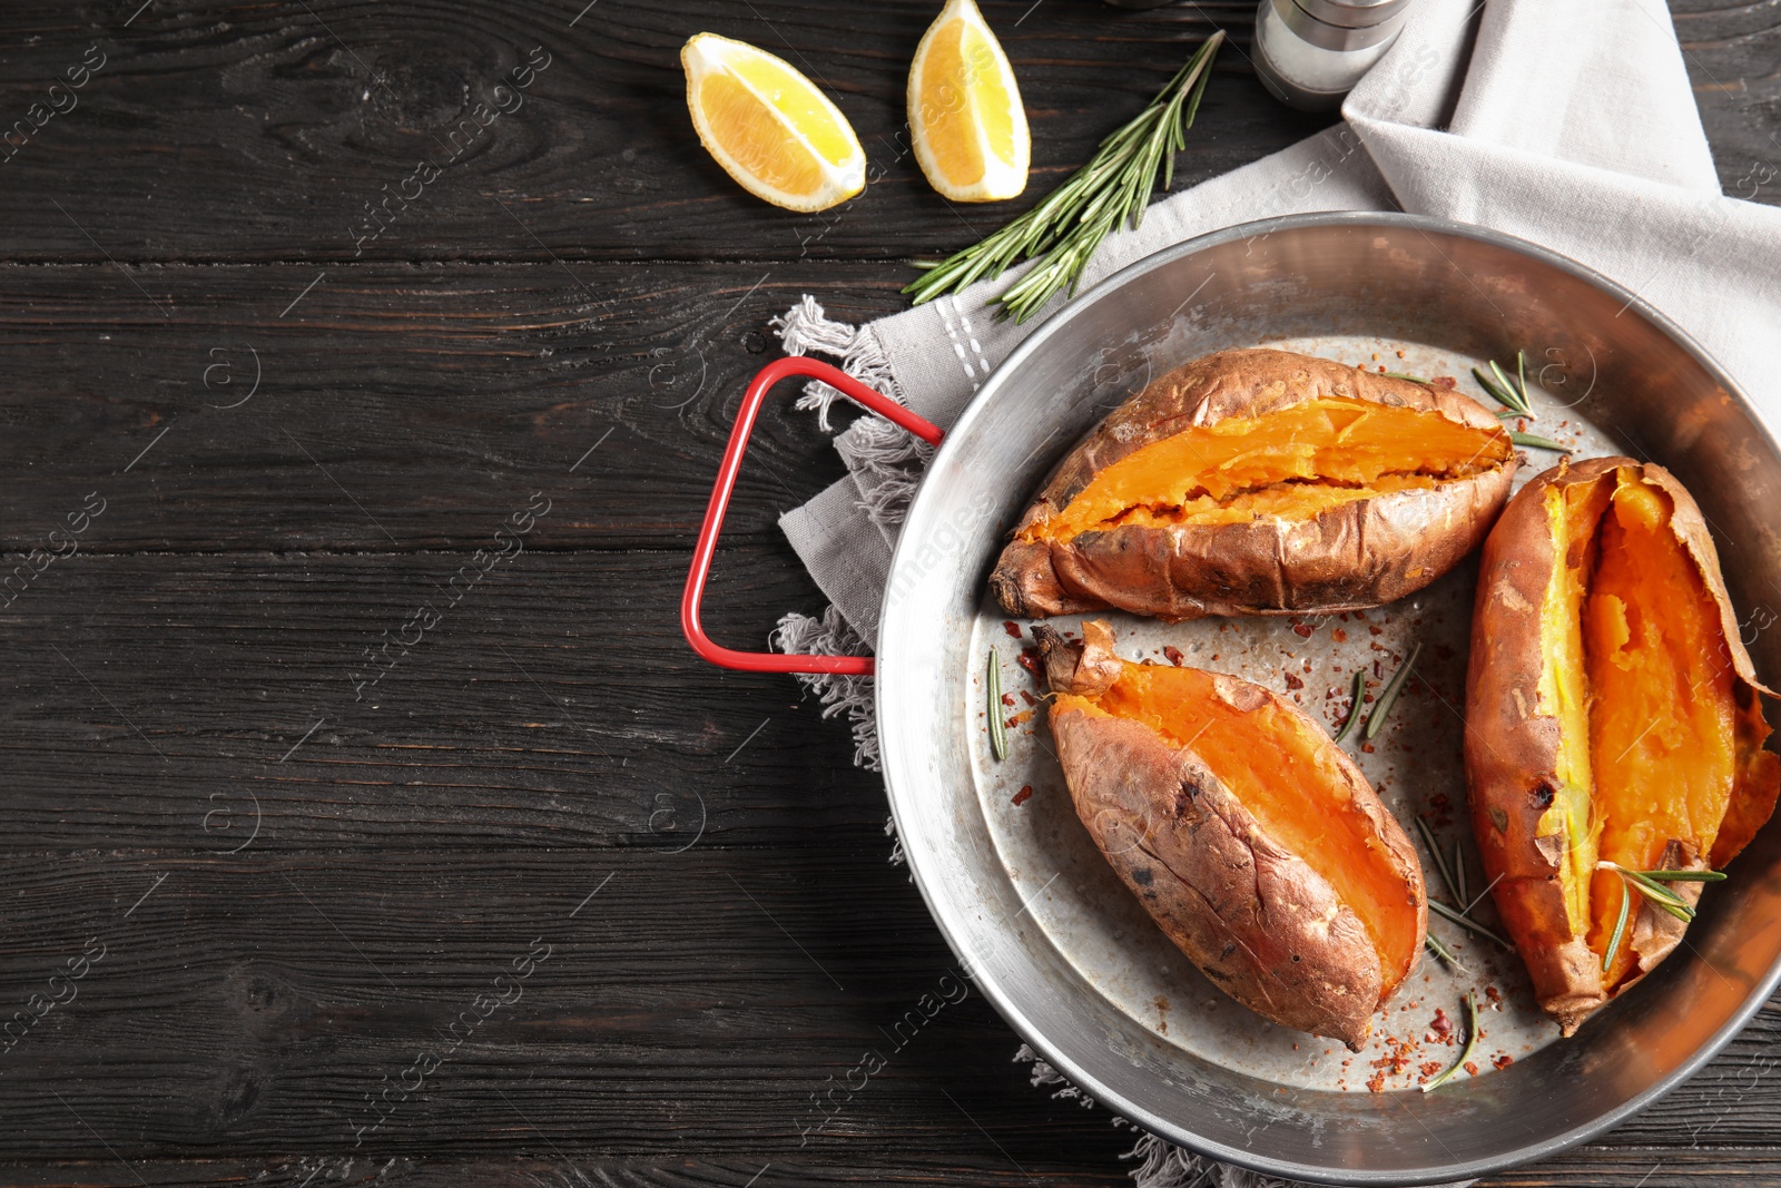
[(1354, 397), (1500, 431), (1476, 401), (1291, 351), (1220, 351), (1193, 360), (1113, 410), (1040, 488), (990, 577), (1010, 614), (1042, 618), (1117, 607), (1181, 622), (1204, 614), (1289, 614), (1380, 606), (1453, 568), (1478, 547), (1514, 479), (1496, 470), (1330, 508), (1313, 520), (1138, 527), (1067, 541), (1021, 534), (1060, 515), (1115, 461), (1191, 426)]

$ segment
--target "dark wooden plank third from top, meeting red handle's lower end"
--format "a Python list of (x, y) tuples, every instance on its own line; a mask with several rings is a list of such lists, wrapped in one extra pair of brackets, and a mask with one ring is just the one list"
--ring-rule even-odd
[[(684, 552), (476, 572), (436, 552), (57, 563), (0, 613), (7, 844), (882, 842), (846, 727), (680, 638)], [(762, 648), (821, 607), (784, 541), (737, 545), (707, 629)]]

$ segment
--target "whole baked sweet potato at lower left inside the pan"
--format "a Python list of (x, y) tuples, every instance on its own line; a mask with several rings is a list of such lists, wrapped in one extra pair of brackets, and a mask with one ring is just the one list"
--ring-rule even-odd
[(1231, 997), (1359, 1051), (1416, 965), (1423, 871), (1354, 761), (1268, 689), (1038, 629), (1058, 761), (1095, 846)]

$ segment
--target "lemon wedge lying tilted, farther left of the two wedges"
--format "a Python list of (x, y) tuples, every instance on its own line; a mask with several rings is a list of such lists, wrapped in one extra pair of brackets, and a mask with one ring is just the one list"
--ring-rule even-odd
[(766, 50), (716, 34), (680, 48), (693, 126), (723, 171), (787, 210), (826, 210), (866, 189), (866, 153), (828, 96)]

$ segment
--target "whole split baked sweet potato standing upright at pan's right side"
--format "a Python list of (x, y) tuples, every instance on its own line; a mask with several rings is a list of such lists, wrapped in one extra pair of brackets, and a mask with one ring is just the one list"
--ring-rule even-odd
[(1473, 613), (1466, 777), (1496, 905), (1565, 1035), (1687, 926), (1631, 894), (1615, 946), (1637, 889), (1598, 864), (1717, 869), (1774, 812), (1761, 695), (1713, 540), (1663, 467), (1592, 458), (1510, 500)]

